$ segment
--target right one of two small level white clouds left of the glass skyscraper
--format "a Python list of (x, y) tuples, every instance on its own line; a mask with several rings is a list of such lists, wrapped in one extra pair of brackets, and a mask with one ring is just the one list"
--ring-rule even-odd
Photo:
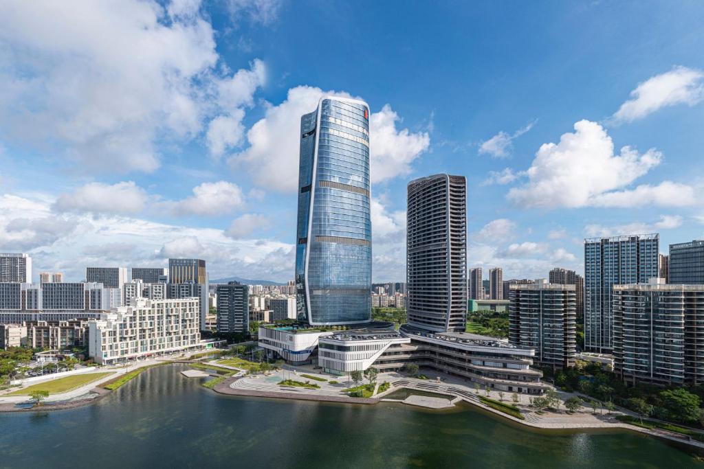
[(191, 197), (165, 205), (180, 215), (225, 214), (244, 205), (244, 194), (237, 184), (231, 182), (204, 182), (193, 188)]

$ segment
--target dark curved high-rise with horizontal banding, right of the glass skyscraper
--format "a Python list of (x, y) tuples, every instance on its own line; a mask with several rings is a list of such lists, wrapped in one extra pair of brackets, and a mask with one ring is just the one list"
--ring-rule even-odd
[(435, 174), (408, 184), (408, 324), (464, 331), (467, 316), (467, 179)]

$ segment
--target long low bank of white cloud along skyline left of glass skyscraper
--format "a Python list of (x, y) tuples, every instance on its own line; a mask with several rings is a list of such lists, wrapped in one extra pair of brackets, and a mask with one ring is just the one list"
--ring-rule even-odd
[(210, 278), (288, 281), (294, 249), (274, 240), (234, 240), (220, 229), (160, 224), (122, 215), (51, 212), (50, 197), (0, 196), (0, 251), (29, 252), (34, 269), (79, 281), (88, 264), (163, 265), (169, 256), (200, 257)]

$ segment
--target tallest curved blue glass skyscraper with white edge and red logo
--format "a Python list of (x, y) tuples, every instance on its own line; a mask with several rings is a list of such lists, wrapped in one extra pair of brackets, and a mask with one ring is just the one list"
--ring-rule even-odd
[(301, 117), (296, 309), (311, 325), (371, 321), (369, 106), (326, 96)]

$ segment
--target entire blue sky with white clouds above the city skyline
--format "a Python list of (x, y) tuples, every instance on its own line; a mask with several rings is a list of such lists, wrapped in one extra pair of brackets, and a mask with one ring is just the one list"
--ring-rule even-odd
[(582, 271), (584, 237), (667, 252), (704, 230), (702, 24), (694, 1), (3, 4), (0, 251), (287, 281), (298, 118), (334, 92), (372, 110), (375, 281), (405, 277), (406, 184), (438, 172), (505, 278)]

